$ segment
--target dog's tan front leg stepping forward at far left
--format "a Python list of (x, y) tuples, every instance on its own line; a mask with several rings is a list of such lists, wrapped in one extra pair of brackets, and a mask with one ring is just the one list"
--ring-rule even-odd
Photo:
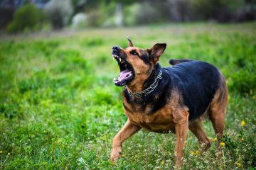
[(129, 119), (127, 120), (123, 128), (114, 137), (110, 155), (110, 160), (112, 162), (120, 157), (122, 152), (122, 142), (134, 135), (134, 133), (138, 132), (140, 129), (139, 126), (132, 124)]

